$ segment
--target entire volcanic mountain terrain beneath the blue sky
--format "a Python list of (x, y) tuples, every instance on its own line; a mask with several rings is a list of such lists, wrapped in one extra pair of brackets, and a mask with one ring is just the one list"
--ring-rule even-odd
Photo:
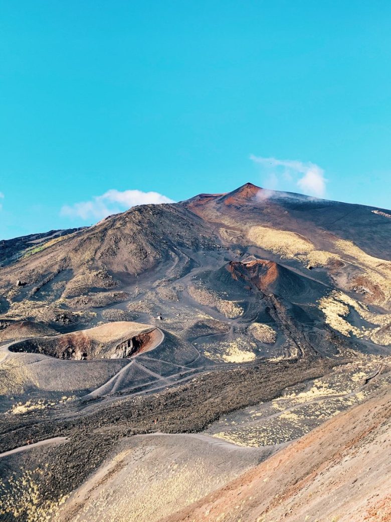
[[(350, 408), (388, 408), (389, 214), (247, 183), (0, 242), (2, 519), (215, 520), (251, 484), (237, 518), (285, 516), (281, 461), (303, 483), (342, 469)], [(266, 469), (286, 502), (266, 503)]]

